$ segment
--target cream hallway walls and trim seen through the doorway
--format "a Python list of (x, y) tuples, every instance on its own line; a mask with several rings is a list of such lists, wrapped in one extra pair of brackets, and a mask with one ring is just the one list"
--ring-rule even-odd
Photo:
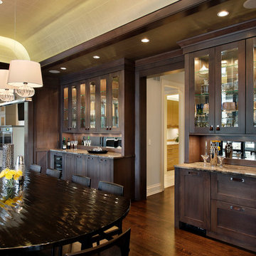
[[(178, 124), (167, 128), (167, 95), (178, 95)], [(184, 71), (146, 79), (146, 196), (174, 186), (167, 171), (167, 142), (175, 144), (178, 163), (184, 161)], [(178, 137), (178, 143), (175, 139)], [(173, 140), (173, 142), (171, 141)], [(178, 164), (177, 163), (177, 164)], [(170, 172), (171, 171), (171, 172)]]

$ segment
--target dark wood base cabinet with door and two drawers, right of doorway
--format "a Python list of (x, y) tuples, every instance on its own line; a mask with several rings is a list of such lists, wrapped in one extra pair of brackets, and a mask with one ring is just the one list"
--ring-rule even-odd
[(212, 238), (256, 251), (255, 177), (176, 167), (175, 186), (177, 228), (193, 225)]

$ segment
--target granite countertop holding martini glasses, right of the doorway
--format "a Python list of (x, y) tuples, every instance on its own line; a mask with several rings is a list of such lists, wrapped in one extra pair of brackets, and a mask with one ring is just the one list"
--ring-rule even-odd
[(210, 166), (207, 163), (207, 166), (203, 166), (203, 162), (195, 162), (191, 164), (178, 164), (174, 167), (184, 168), (184, 169), (197, 169), (199, 171), (218, 171), (223, 174), (242, 174), (245, 176), (256, 177), (256, 167), (249, 166), (236, 166), (231, 164), (223, 164), (223, 167), (220, 166)]

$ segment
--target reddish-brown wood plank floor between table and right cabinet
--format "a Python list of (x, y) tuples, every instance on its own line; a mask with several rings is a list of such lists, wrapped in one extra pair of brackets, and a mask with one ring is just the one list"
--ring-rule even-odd
[(252, 256), (253, 252), (174, 228), (174, 187), (133, 202), (123, 230), (132, 229), (129, 256)]

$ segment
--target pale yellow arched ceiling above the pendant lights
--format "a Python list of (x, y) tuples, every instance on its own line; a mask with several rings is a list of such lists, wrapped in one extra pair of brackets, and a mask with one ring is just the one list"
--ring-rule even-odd
[[(0, 36), (18, 41), (40, 62), (175, 1), (3, 0)], [(0, 62), (21, 57), (14, 47), (3, 46), (0, 38)]]

